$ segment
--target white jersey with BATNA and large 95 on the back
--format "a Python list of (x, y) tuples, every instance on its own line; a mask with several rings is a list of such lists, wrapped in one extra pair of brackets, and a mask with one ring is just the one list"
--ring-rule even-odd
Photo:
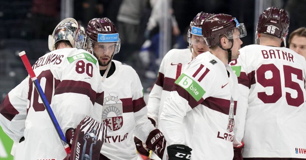
[(245, 106), (243, 158), (306, 158), (305, 58), (284, 47), (248, 45), (239, 51), (234, 67), (241, 68)]

